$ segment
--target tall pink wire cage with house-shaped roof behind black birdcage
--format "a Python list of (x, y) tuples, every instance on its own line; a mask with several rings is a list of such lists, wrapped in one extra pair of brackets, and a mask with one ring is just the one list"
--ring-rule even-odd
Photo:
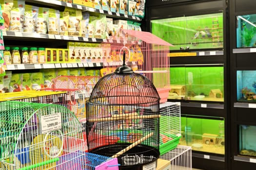
[(151, 80), (160, 102), (166, 102), (170, 90), (170, 46), (173, 45), (149, 32), (122, 30), (117, 36), (102, 42), (104, 64), (101, 74), (114, 72), (122, 65), (120, 51), (125, 49), (126, 65)]

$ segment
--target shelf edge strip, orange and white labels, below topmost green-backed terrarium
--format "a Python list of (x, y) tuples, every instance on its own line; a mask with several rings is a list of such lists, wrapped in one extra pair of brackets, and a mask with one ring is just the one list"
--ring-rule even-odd
[(194, 52), (171, 52), (170, 57), (186, 57), (186, 56), (213, 56), (213, 55), (223, 55), (223, 51), (194, 51)]

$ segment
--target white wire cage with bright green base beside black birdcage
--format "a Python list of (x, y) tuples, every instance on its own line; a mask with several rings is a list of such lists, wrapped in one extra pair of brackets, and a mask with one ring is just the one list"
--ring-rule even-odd
[(160, 104), (160, 155), (176, 148), (181, 137), (180, 102)]

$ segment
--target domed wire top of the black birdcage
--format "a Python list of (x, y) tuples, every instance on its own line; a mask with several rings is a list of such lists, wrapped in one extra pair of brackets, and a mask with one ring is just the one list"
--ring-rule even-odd
[(102, 77), (89, 98), (89, 102), (100, 104), (145, 104), (159, 100), (153, 83), (125, 66)]

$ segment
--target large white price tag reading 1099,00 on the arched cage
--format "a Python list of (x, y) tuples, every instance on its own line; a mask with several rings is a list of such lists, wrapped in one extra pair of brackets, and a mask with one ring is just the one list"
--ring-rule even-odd
[(41, 116), (40, 120), (42, 134), (61, 129), (61, 113)]

